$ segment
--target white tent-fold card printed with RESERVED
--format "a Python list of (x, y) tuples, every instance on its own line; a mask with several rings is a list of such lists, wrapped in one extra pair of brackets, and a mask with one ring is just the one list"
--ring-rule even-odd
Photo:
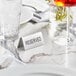
[(35, 34), (20, 38), (18, 48), (29, 50), (43, 44), (44, 39), (42, 32), (37, 32)]

